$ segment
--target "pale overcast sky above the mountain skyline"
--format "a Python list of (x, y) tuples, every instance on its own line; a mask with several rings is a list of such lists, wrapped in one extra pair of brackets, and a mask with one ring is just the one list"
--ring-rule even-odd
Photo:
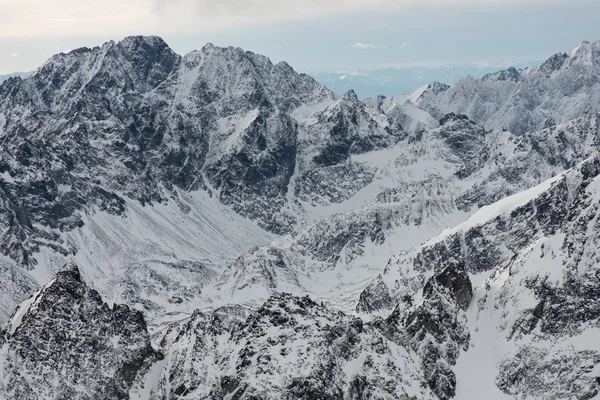
[(599, 0), (0, 0), (0, 73), (128, 35), (300, 71), (544, 60), (600, 39)]

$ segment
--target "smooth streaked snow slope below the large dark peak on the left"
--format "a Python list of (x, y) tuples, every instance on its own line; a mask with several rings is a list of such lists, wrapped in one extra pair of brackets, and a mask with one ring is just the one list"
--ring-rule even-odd
[[(124, 216), (86, 215), (83, 227), (66, 235), (76, 254), (43, 248), (30, 274), (42, 285), (74, 261), (105, 301), (142, 309), (154, 329), (205, 306), (210, 299), (202, 288), (224, 265), (274, 237), (203, 191), (178, 192), (151, 207), (128, 201), (126, 207)], [(169, 301), (179, 298), (183, 302)]]

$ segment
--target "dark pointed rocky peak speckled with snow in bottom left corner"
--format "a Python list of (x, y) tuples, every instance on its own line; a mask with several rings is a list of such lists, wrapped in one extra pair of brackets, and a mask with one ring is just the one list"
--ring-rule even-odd
[(68, 266), (22, 305), (3, 332), (4, 398), (129, 398), (160, 356), (144, 317), (110, 308)]

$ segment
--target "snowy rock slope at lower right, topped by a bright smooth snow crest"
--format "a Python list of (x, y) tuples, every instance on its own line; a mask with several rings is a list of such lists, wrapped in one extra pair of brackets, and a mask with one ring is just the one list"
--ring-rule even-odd
[(406, 326), (427, 301), (429, 277), (458, 265), (473, 299), (460, 325), (468, 346), (451, 367), (456, 398), (592, 398), (600, 391), (600, 347), (591, 340), (600, 318), (599, 173), (594, 156), (393, 257), (361, 309), (395, 306)]

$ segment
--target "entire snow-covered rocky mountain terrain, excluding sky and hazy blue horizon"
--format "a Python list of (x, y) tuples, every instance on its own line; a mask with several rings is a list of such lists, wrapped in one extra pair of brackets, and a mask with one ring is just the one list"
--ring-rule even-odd
[(599, 54), (363, 102), (128, 37), (7, 80), (0, 397), (592, 398)]

